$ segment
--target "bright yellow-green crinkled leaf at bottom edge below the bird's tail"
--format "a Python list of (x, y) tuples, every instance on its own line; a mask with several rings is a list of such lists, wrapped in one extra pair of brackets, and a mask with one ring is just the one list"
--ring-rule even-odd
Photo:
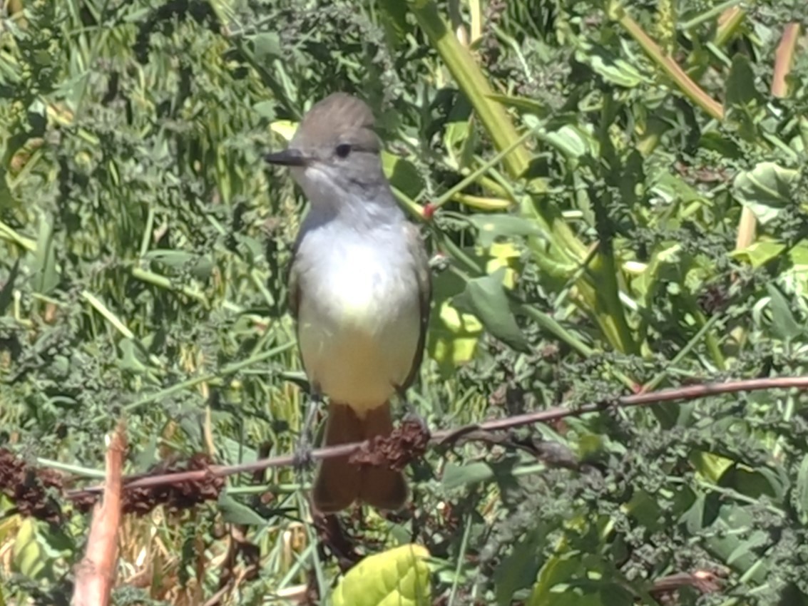
[(334, 606), (430, 606), (431, 587), (422, 545), (402, 545), (364, 558), (332, 596)]

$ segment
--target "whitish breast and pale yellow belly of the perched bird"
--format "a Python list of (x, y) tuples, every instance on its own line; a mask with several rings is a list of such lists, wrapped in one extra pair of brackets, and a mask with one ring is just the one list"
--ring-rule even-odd
[[(418, 284), (403, 234), (307, 234), (301, 253), (298, 339), (309, 380), (358, 410), (386, 402), (406, 380), (420, 330)], [(308, 258), (308, 257), (307, 257)]]

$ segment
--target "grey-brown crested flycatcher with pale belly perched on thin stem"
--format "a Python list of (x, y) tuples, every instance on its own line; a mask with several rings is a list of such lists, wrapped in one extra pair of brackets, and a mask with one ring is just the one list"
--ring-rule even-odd
[[(389, 400), (415, 379), (427, 330), (427, 253), (393, 198), (373, 126), (360, 99), (330, 95), (303, 117), (287, 149), (265, 158), (289, 166), (310, 203), (289, 298), (306, 375), (315, 396), (329, 398), (326, 445), (389, 435)], [(394, 510), (407, 486), (393, 469), (330, 458), (313, 498), (326, 513), (356, 500)]]

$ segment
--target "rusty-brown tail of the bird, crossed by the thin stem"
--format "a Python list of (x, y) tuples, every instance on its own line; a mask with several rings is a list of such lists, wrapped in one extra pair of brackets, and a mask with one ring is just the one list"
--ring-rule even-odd
[[(368, 410), (363, 419), (345, 404), (331, 402), (328, 407), (324, 446), (370, 440), (389, 436), (393, 431), (389, 402)], [(357, 499), (377, 507), (396, 510), (406, 502), (404, 474), (385, 467), (351, 465), (349, 457), (333, 457), (322, 461), (314, 478), (314, 506), (323, 513), (334, 513)]]

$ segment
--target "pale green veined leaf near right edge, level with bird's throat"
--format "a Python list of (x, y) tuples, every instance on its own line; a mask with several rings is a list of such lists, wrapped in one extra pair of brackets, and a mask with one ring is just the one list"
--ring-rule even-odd
[(784, 208), (796, 204), (794, 187), (798, 170), (783, 168), (774, 162), (760, 162), (744, 170), (733, 183), (735, 199), (755, 213), (761, 225), (772, 221)]

